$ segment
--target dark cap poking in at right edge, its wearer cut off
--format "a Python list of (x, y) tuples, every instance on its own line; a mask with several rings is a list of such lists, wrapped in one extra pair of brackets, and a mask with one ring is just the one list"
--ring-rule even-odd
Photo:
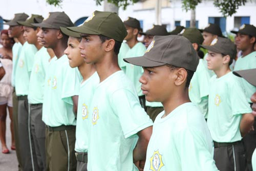
[(252, 84), (252, 86), (256, 86), (256, 69), (233, 71), (233, 74), (243, 77), (246, 81)]

